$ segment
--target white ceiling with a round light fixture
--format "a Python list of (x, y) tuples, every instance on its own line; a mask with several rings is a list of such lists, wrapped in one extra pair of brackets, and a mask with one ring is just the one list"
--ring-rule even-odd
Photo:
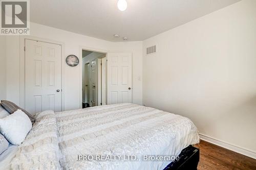
[[(32, 22), (109, 41), (141, 41), (241, 0), (33, 0)], [(120, 35), (115, 38), (113, 35)]]

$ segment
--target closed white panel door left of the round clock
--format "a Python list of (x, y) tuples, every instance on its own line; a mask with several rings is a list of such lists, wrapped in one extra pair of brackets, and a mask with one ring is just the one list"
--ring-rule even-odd
[(61, 46), (25, 40), (25, 109), (61, 111)]

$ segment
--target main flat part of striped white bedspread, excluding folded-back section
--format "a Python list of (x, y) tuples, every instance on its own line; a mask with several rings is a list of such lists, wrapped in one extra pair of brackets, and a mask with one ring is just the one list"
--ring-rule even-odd
[(190, 119), (135, 104), (55, 113), (63, 169), (163, 169), (170, 161), (86, 161), (77, 155), (171, 155), (199, 142)]

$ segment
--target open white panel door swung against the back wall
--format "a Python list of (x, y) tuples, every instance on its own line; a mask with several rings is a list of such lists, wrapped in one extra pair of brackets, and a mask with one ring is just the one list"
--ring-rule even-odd
[(132, 103), (132, 53), (108, 53), (107, 102)]

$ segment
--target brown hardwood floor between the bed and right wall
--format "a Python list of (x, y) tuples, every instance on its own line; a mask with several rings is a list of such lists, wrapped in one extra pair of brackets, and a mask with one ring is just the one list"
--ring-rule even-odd
[(233, 169), (256, 170), (256, 159), (221, 148), (217, 145), (201, 140), (194, 145), (200, 148), (200, 161), (197, 169)]

